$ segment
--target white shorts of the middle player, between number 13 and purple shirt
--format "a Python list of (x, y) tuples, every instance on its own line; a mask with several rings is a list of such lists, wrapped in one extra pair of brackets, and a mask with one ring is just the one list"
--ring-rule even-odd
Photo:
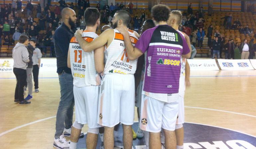
[(134, 75), (103, 75), (100, 86), (98, 124), (114, 127), (122, 123), (132, 125), (135, 102)]

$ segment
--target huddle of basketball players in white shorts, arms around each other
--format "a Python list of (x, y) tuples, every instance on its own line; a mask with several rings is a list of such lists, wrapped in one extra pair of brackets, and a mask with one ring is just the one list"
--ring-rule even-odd
[(67, 59), (75, 100), (69, 148), (76, 148), (81, 129), (88, 124), (87, 149), (96, 148), (100, 129), (104, 148), (113, 149), (114, 127), (121, 123), (123, 147), (131, 149), (135, 98), (146, 147), (183, 148), (190, 39), (178, 31), (180, 11), (156, 5), (151, 12), (153, 21), (145, 21), (141, 35), (127, 28), (131, 17), (121, 10), (113, 17), (113, 29), (98, 36), (100, 13), (96, 8), (85, 10), (86, 29), (78, 29), (71, 38)]

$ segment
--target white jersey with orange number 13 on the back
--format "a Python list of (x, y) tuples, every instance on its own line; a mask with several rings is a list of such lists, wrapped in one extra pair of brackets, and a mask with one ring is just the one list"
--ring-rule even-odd
[[(87, 42), (91, 42), (98, 35), (92, 31), (83, 31), (82, 37)], [(75, 37), (70, 40), (69, 50), (73, 85), (77, 87), (99, 85), (100, 76), (95, 70), (94, 51), (84, 52)]]

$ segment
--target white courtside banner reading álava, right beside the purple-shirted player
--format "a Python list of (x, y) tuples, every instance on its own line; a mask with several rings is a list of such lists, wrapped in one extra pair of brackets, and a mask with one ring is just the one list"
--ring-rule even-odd
[(219, 70), (214, 59), (187, 59), (190, 70)]

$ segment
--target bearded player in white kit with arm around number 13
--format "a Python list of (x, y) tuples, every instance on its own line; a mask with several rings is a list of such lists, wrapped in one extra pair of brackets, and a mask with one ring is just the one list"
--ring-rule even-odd
[[(127, 30), (130, 23), (130, 14), (126, 11), (117, 11), (112, 20), (113, 28)], [(85, 51), (104, 46), (107, 43), (107, 61), (100, 87), (100, 102), (98, 108), (98, 123), (105, 128), (104, 148), (113, 149), (113, 131), (116, 124), (123, 124), (124, 148), (132, 148), (132, 127), (134, 120), (134, 76), (137, 60), (127, 58), (123, 36), (116, 29), (104, 31), (98, 38), (88, 43), (81, 37), (82, 30), (75, 32), (75, 37)], [(129, 39), (136, 44), (138, 33), (127, 30)]]

